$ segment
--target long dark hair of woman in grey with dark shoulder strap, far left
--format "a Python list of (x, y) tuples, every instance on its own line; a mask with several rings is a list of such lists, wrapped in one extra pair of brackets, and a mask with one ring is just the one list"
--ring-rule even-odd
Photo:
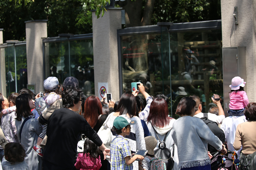
[(20, 94), (17, 96), (16, 99), (16, 112), (15, 115), (17, 116), (16, 120), (21, 120), (23, 117), (28, 117), (32, 115), (31, 108), (29, 106), (29, 101), (32, 100), (32, 97), (29, 94)]

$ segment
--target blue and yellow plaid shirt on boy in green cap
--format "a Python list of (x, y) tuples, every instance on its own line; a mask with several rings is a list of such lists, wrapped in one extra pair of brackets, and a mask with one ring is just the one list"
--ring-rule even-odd
[(121, 135), (116, 135), (110, 144), (111, 170), (133, 170), (133, 165), (125, 163), (125, 157), (131, 156), (130, 144)]

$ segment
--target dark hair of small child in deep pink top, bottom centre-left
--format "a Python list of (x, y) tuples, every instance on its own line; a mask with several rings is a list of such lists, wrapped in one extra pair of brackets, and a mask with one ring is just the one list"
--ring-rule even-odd
[(92, 158), (98, 158), (100, 154), (99, 147), (88, 138), (84, 141), (84, 154), (86, 153)]

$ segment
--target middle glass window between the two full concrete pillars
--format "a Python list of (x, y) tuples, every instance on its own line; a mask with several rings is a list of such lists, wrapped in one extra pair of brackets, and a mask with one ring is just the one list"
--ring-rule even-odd
[(86, 96), (95, 94), (92, 39), (61, 38), (61, 42), (47, 42), (44, 47), (45, 79), (53, 76), (63, 83), (65, 78), (73, 76)]

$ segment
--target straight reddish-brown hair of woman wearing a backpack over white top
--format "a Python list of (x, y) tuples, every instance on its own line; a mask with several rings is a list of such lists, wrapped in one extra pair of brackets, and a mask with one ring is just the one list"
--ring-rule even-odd
[(155, 98), (150, 105), (148, 122), (156, 127), (165, 127), (171, 119), (168, 116), (167, 102), (163, 98)]

